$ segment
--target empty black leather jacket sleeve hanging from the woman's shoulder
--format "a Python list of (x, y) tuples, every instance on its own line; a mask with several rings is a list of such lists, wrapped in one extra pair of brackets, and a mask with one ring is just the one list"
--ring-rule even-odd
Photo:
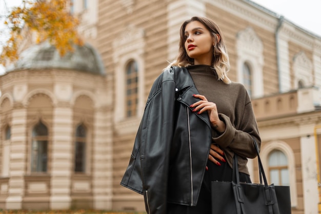
[(141, 124), (141, 173), (148, 214), (166, 214), (169, 150), (173, 138), (175, 82), (155, 81)]

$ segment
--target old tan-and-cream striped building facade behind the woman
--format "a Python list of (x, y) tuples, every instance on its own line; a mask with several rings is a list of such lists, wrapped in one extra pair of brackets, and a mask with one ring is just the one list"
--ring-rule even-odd
[(248, 0), (75, 0), (72, 10), (104, 69), (16, 66), (0, 77), (1, 208), (144, 210), (119, 182), (149, 89), (197, 15), (220, 26), (229, 77), (252, 97), (269, 181), (290, 185), (292, 213), (318, 211), (320, 36)]

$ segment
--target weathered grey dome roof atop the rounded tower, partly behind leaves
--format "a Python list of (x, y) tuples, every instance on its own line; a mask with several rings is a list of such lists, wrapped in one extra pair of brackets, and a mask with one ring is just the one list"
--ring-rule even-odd
[(74, 46), (74, 52), (63, 57), (48, 42), (33, 45), (24, 50), (16, 63), (7, 72), (22, 69), (70, 69), (93, 74), (105, 75), (104, 65), (98, 52), (89, 44)]

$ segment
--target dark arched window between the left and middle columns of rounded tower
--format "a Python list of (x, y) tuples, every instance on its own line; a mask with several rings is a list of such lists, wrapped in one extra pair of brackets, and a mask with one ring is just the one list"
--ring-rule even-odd
[(48, 129), (39, 122), (32, 130), (31, 172), (46, 172), (48, 161)]

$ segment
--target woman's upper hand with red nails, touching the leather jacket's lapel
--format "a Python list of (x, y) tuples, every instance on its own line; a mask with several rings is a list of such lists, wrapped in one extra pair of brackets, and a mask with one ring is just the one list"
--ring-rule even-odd
[(208, 102), (205, 96), (203, 95), (194, 94), (193, 96), (194, 98), (200, 99), (200, 101), (193, 103), (190, 106), (191, 108), (194, 108), (193, 111), (198, 111), (198, 114), (207, 111), (212, 127), (218, 132), (224, 132), (226, 129), (226, 125), (223, 121), (219, 120), (216, 104)]

